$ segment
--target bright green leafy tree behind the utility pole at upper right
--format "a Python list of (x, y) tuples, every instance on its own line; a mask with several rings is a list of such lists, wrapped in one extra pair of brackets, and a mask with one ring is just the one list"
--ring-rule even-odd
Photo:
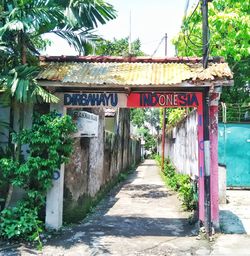
[[(198, 7), (198, 5), (197, 5)], [(202, 16), (198, 8), (189, 14), (173, 43), (182, 56), (202, 56)], [(209, 3), (210, 55), (223, 56), (234, 72), (234, 86), (224, 88), (222, 100), (249, 103), (249, 3), (214, 0)]]

